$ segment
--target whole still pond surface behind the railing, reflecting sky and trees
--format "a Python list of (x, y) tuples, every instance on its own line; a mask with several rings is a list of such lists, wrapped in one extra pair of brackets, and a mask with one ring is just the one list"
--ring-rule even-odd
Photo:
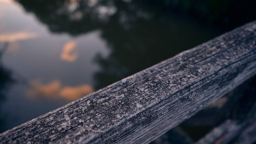
[(140, 1), (0, 0), (0, 130), (220, 34)]

